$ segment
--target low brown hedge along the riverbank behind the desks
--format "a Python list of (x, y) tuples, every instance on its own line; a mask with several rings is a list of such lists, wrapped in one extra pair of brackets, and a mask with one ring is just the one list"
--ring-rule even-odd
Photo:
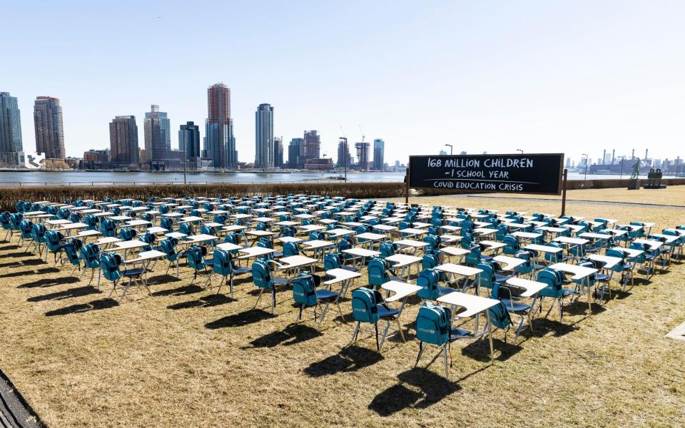
[[(642, 180), (646, 183), (646, 180)], [(685, 178), (667, 178), (665, 185), (685, 185)], [(582, 188), (627, 188), (628, 180), (569, 180), (569, 190)], [(658, 190), (655, 190), (658, 191)], [(0, 187), (0, 210), (14, 211), (19, 200), (76, 200), (103, 198), (133, 198), (147, 200), (153, 196), (181, 198), (189, 195), (207, 197), (233, 195), (287, 195), (306, 193), (308, 195), (332, 195), (344, 198), (400, 198), (405, 196), (404, 183), (215, 183), (215, 184), (173, 184), (173, 185), (47, 185), (29, 187)], [(467, 190), (413, 190), (412, 195), (454, 195), (471, 193)]]

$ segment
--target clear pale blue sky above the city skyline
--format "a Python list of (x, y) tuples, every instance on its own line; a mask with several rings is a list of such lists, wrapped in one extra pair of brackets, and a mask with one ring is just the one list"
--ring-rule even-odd
[[(685, 1), (5, 1), (0, 91), (61, 98), (66, 152), (108, 147), (108, 122), (159, 104), (204, 123), (206, 88), (231, 88), (240, 161), (254, 112), (275, 135), (321, 133), (337, 157), (384, 138), (385, 158), (602, 148), (685, 157)], [(204, 130), (204, 128), (202, 128)], [(204, 132), (201, 133), (202, 135)], [(449, 150), (447, 148), (447, 150)]]

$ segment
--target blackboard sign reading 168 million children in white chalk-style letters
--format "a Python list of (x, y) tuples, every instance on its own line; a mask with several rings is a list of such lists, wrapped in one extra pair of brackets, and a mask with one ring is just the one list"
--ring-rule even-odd
[(410, 156), (409, 187), (559, 195), (564, 153)]

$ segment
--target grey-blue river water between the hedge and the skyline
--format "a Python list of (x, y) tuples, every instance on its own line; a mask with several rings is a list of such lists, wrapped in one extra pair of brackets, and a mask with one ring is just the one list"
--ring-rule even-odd
[[(293, 183), (330, 181), (342, 173), (189, 173), (188, 183)], [(628, 178), (629, 175), (623, 175)], [(402, 183), (405, 173), (348, 172), (352, 183)], [(584, 175), (569, 172), (569, 180), (583, 180)], [(609, 180), (619, 175), (587, 175), (588, 180)], [(117, 184), (183, 183), (183, 173), (97, 172), (97, 171), (31, 171), (0, 172), (0, 186), (16, 185), (117, 185)]]

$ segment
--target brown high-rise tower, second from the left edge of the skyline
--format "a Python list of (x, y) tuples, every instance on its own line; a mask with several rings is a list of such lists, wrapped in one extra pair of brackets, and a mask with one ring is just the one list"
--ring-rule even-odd
[(66, 158), (64, 151), (64, 123), (59, 98), (36, 97), (34, 103), (36, 152), (45, 153), (46, 159)]

